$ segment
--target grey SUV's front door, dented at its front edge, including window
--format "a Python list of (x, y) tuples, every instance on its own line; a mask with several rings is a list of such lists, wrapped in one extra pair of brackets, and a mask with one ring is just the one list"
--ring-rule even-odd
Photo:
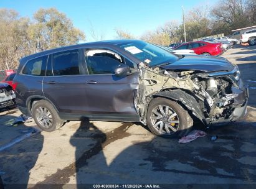
[[(87, 112), (110, 116), (138, 116), (135, 110), (135, 94), (138, 89), (138, 68), (128, 58), (107, 48), (85, 49), (87, 65)], [(115, 68), (127, 64), (131, 75), (118, 77)]]

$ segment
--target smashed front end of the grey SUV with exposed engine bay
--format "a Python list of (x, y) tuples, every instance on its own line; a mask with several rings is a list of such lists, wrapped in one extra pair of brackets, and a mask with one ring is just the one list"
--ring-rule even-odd
[(247, 102), (247, 91), (237, 67), (233, 71), (202, 72), (164, 70), (139, 65), (139, 91), (135, 105), (141, 122), (146, 124), (146, 111), (154, 97), (166, 97), (183, 104), (205, 125), (232, 121), (234, 109)]

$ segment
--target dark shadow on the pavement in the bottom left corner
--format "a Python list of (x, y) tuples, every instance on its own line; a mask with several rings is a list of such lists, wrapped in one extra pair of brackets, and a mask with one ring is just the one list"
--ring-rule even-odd
[[(33, 136), (31, 130), (34, 128), (32, 127), (27, 127), (24, 124), (13, 125), (12, 123), (17, 117), (11, 115), (12, 111), (1, 115), (0, 175), (4, 188), (27, 188), (30, 170), (36, 164), (42, 150), (44, 137), (40, 133)], [(27, 135), (30, 137), (26, 137)], [(15, 145), (15, 142), (22, 137), (25, 137), (26, 140), (19, 142), (20, 145)]]

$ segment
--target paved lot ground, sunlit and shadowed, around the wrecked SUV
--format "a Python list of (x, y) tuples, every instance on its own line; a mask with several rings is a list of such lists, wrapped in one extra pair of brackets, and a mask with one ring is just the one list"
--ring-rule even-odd
[[(139, 123), (72, 121), (58, 131), (40, 132), (34, 121), (13, 124), (21, 114), (18, 109), (2, 109), (0, 176), (4, 188), (255, 184), (256, 46), (236, 45), (222, 57), (239, 66), (250, 87), (247, 116), (205, 129), (206, 137), (187, 144), (156, 137)], [(212, 136), (217, 140), (211, 141)]]

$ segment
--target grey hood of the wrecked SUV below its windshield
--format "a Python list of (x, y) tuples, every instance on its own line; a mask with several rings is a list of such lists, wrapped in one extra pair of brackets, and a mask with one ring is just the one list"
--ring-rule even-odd
[(174, 63), (160, 66), (165, 70), (232, 71), (235, 65), (222, 57), (186, 56)]

